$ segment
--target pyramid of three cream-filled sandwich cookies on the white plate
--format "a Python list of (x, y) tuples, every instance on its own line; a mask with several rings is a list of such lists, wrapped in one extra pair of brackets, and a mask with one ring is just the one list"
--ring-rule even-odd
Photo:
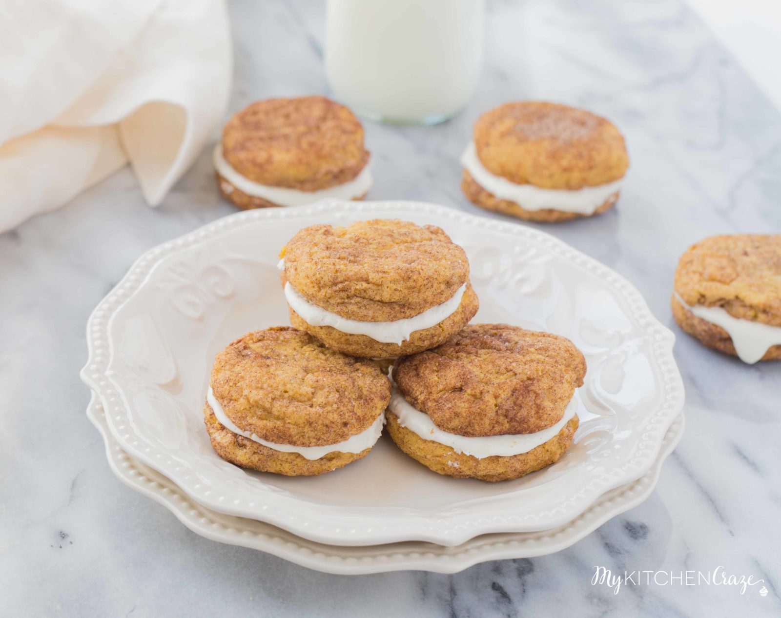
[(369, 452), (388, 404), (391, 438), (439, 474), (519, 478), (568, 449), (583, 354), (550, 333), (468, 325), (478, 309), (469, 261), (442, 229), (310, 226), (280, 257), (294, 328), (237, 339), (212, 370), (205, 417), (223, 459), (335, 470)]

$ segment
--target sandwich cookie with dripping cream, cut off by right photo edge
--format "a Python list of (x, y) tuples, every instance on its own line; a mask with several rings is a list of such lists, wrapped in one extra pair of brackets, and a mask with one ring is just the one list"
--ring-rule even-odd
[(695, 243), (678, 262), (671, 304), (704, 345), (748, 364), (781, 359), (781, 234)]

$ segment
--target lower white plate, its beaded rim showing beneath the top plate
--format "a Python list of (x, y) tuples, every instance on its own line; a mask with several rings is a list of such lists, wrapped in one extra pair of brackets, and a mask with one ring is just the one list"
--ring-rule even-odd
[(569, 524), (541, 532), (482, 535), (463, 545), (444, 547), (420, 541), (339, 547), (292, 535), (261, 521), (224, 515), (194, 502), (186, 493), (151, 467), (125, 453), (109, 432), (105, 413), (93, 393), (87, 408), (105, 440), (106, 456), (119, 480), (166, 506), (191, 531), (212, 541), (269, 552), (293, 563), (341, 575), (383, 573), (393, 570), (429, 570), (457, 573), (488, 560), (533, 558), (560, 552), (580, 541), (612, 517), (642, 503), (656, 486), (665, 458), (683, 435), (683, 414), (670, 425), (659, 457), (637, 481), (612, 489)]

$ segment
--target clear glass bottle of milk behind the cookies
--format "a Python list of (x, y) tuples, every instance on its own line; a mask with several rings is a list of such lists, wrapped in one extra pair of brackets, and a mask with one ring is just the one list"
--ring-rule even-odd
[(335, 98), (387, 123), (450, 118), (477, 85), (484, 13), (484, 0), (328, 0)]

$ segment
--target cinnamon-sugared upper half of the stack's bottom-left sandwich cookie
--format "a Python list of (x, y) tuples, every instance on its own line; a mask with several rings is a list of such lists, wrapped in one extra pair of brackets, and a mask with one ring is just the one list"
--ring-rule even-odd
[(238, 428), (293, 446), (343, 442), (369, 428), (391, 399), (377, 364), (287, 326), (236, 339), (217, 354), (210, 385)]

